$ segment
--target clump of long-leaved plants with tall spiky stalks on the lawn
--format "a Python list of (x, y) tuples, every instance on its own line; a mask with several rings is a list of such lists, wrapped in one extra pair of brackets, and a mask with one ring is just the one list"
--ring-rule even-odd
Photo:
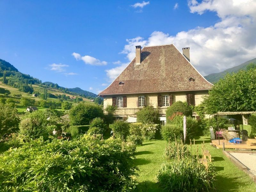
[[(204, 144), (202, 151), (204, 151)], [(215, 172), (212, 164), (200, 163), (198, 147), (190, 142), (190, 149), (181, 140), (169, 142), (164, 153), (166, 162), (157, 179), (165, 191), (215, 191)]]

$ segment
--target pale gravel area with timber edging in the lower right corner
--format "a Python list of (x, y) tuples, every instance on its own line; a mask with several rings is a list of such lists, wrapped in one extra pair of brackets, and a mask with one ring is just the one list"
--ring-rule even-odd
[(256, 176), (256, 153), (230, 153)]

